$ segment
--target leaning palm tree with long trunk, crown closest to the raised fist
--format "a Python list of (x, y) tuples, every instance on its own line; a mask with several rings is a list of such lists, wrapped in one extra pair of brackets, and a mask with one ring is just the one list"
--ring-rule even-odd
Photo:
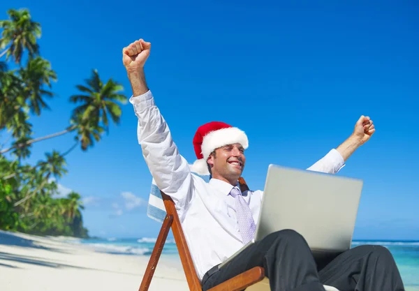
[(93, 70), (91, 78), (85, 80), (85, 82), (87, 86), (76, 86), (83, 94), (70, 97), (71, 102), (82, 103), (73, 110), (71, 126), (52, 135), (14, 144), (8, 149), (2, 149), (0, 154), (4, 154), (17, 147), (27, 147), (34, 142), (64, 135), (74, 130), (77, 130), (76, 138), (81, 141), (82, 150), (86, 150), (94, 144), (94, 140), (100, 140), (104, 130), (108, 132), (109, 119), (112, 119), (115, 124), (119, 124), (122, 109), (117, 102), (126, 104), (128, 100), (125, 95), (119, 94), (119, 91), (124, 89), (122, 85), (114, 82), (112, 79), (108, 80), (106, 84), (103, 84), (97, 70)]

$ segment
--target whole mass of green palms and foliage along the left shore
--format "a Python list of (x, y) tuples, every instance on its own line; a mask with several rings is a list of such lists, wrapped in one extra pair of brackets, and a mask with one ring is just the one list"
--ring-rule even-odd
[[(51, 89), (57, 74), (39, 54), (36, 39), (41, 37), (41, 24), (31, 20), (27, 9), (10, 9), (8, 15), (9, 20), (0, 20), (0, 133), (7, 131), (12, 140), (8, 148), (3, 148), (7, 141), (0, 140), (0, 229), (88, 237), (80, 194), (57, 196), (56, 181), (67, 172), (68, 153), (77, 146), (87, 151), (108, 133), (109, 120), (119, 123), (122, 109), (118, 103), (126, 103), (127, 98), (119, 93), (120, 84), (112, 79), (103, 82), (98, 71), (92, 70), (84, 85), (75, 86), (80, 93), (69, 98), (77, 107), (68, 126), (59, 133), (32, 137), (31, 115), (51, 110), (46, 99), (55, 96)], [(35, 165), (25, 163), (34, 142), (67, 133), (75, 140), (68, 151), (47, 152)]]

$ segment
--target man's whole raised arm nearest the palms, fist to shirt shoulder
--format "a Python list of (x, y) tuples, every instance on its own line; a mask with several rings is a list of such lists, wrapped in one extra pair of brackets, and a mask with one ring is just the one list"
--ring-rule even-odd
[(133, 90), (130, 103), (138, 117), (138, 143), (156, 185), (172, 197), (177, 207), (184, 207), (191, 198), (191, 172), (188, 163), (179, 154), (168, 124), (147, 87), (144, 65), (150, 50), (151, 43), (140, 39), (122, 51), (122, 60)]

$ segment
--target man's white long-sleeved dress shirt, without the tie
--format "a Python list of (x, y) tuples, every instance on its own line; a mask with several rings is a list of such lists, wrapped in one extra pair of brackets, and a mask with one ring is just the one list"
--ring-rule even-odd
[[(191, 173), (188, 162), (179, 154), (172, 140), (168, 124), (156, 107), (151, 91), (132, 96), (130, 103), (138, 117), (138, 143), (142, 154), (156, 185), (175, 202), (193, 264), (202, 280), (206, 271), (243, 246), (237, 226), (235, 199), (228, 195), (233, 186), (218, 179), (207, 183)], [(343, 166), (344, 159), (332, 149), (308, 170), (335, 174)], [(263, 191), (242, 194), (257, 224)]]

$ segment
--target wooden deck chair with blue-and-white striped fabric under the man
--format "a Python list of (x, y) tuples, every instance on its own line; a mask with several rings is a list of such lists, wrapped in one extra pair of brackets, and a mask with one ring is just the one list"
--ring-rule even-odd
[[(200, 177), (209, 180), (209, 177)], [(249, 190), (243, 178), (240, 178), (239, 182), (242, 192)], [(193, 265), (191, 253), (189, 252), (189, 247), (184, 237), (182, 225), (180, 223), (179, 216), (177, 215), (175, 202), (173, 202), (170, 196), (166, 195), (160, 191), (159, 188), (157, 188), (154, 180), (152, 183), (152, 191), (149, 195), (147, 216), (156, 221), (160, 221), (162, 225), (138, 291), (147, 291), (149, 289), (149, 285), (152, 283), (154, 271), (156, 271), (161, 252), (163, 251), (163, 246), (168, 237), (170, 227), (172, 228), (173, 237), (175, 238), (177, 251), (179, 251), (179, 257), (182, 262), (186, 281), (189, 285), (189, 290), (202, 291), (195, 266)], [(326, 291), (339, 291), (336, 288), (326, 285), (324, 287)], [(252, 269), (244, 271), (242, 274), (216, 285), (214, 288), (211, 288), (210, 291), (240, 291), (244, 289), (247, 291), (270, 290), (269, 279), (265, 277), (265, 269), (263, 269), (263, 267), (253, 267)]]

